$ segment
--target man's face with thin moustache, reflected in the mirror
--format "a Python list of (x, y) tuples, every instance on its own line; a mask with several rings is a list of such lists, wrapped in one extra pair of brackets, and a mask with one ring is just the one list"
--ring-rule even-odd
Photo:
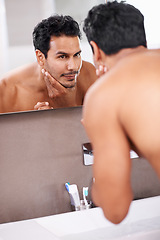
[(78, 37), (51, 37), (50, 49), (44, 68), (62, 86), (72, 88), (82, 65), (81, 49)]

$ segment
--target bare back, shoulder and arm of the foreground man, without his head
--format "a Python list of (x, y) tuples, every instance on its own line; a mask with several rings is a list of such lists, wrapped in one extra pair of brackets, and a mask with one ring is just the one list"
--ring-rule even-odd
[[(160, 177), (160, 54), (130, 54), (87, 92), (83, 123), (94, 150), (92, 196), (109, 220), (119, 222), (132, 201), (130, 149)], [(122, 218), (120, 218), (122, 219)]]

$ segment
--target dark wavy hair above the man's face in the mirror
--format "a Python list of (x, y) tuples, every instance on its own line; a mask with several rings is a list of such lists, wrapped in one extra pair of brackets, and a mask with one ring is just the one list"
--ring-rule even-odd
[(62, 35), (81, 38), (78, 23), (70, 16), (54, 15), (42, 20), (33, 31), (33, 45), (35, 50), (39, 49), (47, 58), (50, 49), (50, 39), (52, 36)]

